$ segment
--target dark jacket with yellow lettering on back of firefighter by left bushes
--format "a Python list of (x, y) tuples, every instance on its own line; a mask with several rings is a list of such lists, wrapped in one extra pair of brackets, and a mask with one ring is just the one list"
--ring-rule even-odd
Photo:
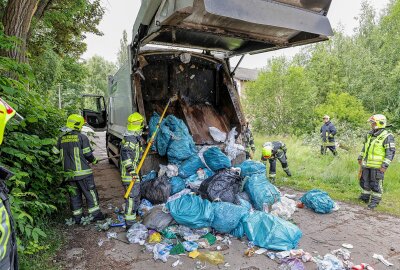
[(93, 174), (89, 163), (96, 163), (89, 139), (79, 131), (64, 133), (58, 138), (54, 153), (59, 153), (65, 172), (72, 172), (72, 180), (81, 180)]

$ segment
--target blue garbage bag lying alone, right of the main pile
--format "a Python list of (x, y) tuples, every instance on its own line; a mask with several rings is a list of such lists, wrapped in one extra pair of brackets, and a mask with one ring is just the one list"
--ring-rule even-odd
[(313, 189), (304, 194), (300, 201), (316, 213), (327, 214), (332, 212), (335, 202), (329, 197), (328, 193), (319, 189)]

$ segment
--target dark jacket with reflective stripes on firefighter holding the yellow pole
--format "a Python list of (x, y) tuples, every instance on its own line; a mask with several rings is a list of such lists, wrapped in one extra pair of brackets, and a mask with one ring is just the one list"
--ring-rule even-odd
[(130, 172), (136, 170), (142, 153), (141, 136), (136, 134), (124, 135), (120, 149), (122, 183), (129, 184), (132, 179)]

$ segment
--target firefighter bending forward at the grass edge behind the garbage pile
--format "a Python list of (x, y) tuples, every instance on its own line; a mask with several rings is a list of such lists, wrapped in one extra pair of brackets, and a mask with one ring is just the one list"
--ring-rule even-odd
[(261, 161), (267, 165), (267, 160), (269, 160), (269, 179), (272, 183), (275, 182), (276, 178), (276, 159), (281, 163), (282, 169), (286, 172), (287, 176), (292, 176), (287, 163), (286, 152), (286, 145), (280, 141), (266, 142), (263, 145)]

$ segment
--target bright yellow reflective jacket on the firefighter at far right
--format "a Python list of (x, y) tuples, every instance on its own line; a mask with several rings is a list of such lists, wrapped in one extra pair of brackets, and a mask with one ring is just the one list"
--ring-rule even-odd
[(393, 135), (385, 129), (378, 129), (367, 134), (358, 159), (366, 168), (387, 168), (394, 158), (395, 149)]

